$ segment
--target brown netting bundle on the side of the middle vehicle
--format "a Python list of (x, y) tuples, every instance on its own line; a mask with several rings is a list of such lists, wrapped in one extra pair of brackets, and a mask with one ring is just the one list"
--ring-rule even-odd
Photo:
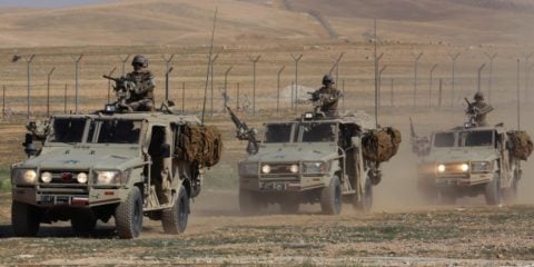
[(400, 131), (397, 129), (386, 127), (373, 130), (362, 139), (364, 158), (375, 162), (387, 161), (397, 154), (400, 141)]

